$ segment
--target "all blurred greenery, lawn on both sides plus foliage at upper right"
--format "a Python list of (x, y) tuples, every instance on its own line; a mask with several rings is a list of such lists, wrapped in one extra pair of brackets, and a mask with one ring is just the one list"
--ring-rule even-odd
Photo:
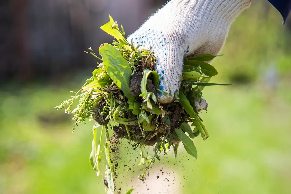
[[(201, 116), (210, 138), (194, 140), (198, 160), (179, 154), (184, 160), (173, 168), (184, 176), (181, 193), (291, 193), (290, 34), (274, 8), (265, 18), (258, 6), (237, 18), (225, 56), (213, 63), (219, 75), (212, 81), (235, 86), (204, 90), (210, 106)], [(274, 64), (280, 83), (268, 90), (261, 78)], [(247, 81), (238, 84), (238, 76)], [(88, 162), (93, 123), (72, 134), (70, 116), (53, 109), (80, 86), (2, 88), (0, 193), (105, 193)]]

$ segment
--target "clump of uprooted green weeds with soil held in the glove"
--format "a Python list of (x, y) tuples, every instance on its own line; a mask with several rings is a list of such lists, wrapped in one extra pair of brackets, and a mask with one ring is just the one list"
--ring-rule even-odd
[[(169, 104), (159, 104), (157, 95), (160, 92), (164, 95), (172, 94), (158, 89), (161, 77), (154, 70), (154, 52), (140, 49), (141, 45), (135, 47), (132, 40), (129, 42), (126, 39), (123, 26), (120, 26), (120, 30), (117, 22), (111, 16), (109, 18), (110, 21), (101, 29), (117, 41), (112, 45), (104, 43), (100, 46), (99, 54), (102, 58), (89, 48), (90, 52), (86, 53), (100, 60), (93, 76), (86, 80), (71, 99), (55, 108), (68, 107), (65, 112), (73, 114), (72, 120), (75, 120), (73, 131), (79, 124), (86, 124), (87, 119), (95, 120), (90, 162), (97, 175), (100, 175), (99, 163), (102, 153), (105, 153), (108, 193), (113, 193), (116, 188), (109, 154), (109, 145), (113, 139), (126, 138), (141, 148), (141, 164), (144, 168), (140, 180), (148, 175), (155, 159), (160, 160), (160, 152), (173, 147), (176, 157), (181, 141), (187, 153), (197, 159), (197, 150), (191, 139), (200, 134), (205, 140), (209, 134), (198, 115), (201, 110), (197, 110), (196, 105), (206, 102), (202, 94), (205, 86), (226, 84), (209, 83), (217, 71), (207, 61), (218, 55), (203, 54), (186, 58), (180, 91), (173, 93), (175, 100)], [(77, 99), (77, 107), (71, 110)], [(102, 151), (104, 131), (106, 141)], [(114, 137), (109, 136), (109, 131), (115, 132)], [(97, 132), (101, 134), (99, 140)], [(153, 146), (154, 156), (145, 154), (144, 146)]]

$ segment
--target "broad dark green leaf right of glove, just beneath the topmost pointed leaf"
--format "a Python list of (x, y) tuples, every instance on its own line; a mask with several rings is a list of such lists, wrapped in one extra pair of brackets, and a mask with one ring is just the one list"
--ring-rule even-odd
[(212, 77), (218, 74), (217, 70), (210, 64), (198, 60), (184, 60), (183, 70), (192, 70), (194, 67), (201, 67), (202, 73)]

